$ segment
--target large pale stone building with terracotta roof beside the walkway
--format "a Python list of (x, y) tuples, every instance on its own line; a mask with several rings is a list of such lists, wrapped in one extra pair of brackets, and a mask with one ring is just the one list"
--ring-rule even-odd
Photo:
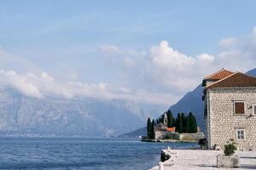
[(224, 149), (224, 144), (234, 139), (239, 150), (253, 150), (256, 78), (223, 69), (205, 77), (202, 85), (208, 148)]

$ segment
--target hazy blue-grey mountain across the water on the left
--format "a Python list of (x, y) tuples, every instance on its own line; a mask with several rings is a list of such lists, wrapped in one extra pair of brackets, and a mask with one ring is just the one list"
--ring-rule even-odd
[(119, 135), (143, 127), (147, 116), (131, 101), (37, 99), (0, 88), (2, 135)]

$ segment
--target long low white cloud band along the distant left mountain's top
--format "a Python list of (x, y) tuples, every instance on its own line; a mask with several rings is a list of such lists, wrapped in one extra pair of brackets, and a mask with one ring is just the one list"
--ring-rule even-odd
[(0, 85), (12, 87), (20, 93), (35, 98), (59, 96), (66, 99), (91, 97), (96, 99), (131, 99), (138, 102), (168, 104), (170, 95), (148, 93), (143, 90), (131, 91), (129, 88), (113, 88), (108, 83), (60, 82), (46, 72), (35, 75), (31, 72), (19, 74), (15, 71), (0, 71)]

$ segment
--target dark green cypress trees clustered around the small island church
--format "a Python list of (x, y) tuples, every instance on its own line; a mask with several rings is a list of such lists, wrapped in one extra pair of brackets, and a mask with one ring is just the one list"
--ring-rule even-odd
[[(166, 111), (166, 115), (167, 127), (176, 127), (175, 131), (177, 133), (197, 133), (197, 122), (192, 112), (189, 112), (189, 115), (178, 113), (177, 117), (174, 117), (172, 111), (168, 110)], [(156, 124), (160, 122), (164, 123), (164, 118), (165, 114), (156, 120)], [(154, 124), (154, 119), (151, 121), (148, 117), (147, 132), (149, 139), (154, 139)]]

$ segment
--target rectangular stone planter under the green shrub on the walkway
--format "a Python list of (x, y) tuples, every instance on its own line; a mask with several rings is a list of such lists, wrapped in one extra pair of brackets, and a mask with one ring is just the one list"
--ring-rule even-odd
[(217, 156), (217, 167), (241, 167), (239, 156)]

